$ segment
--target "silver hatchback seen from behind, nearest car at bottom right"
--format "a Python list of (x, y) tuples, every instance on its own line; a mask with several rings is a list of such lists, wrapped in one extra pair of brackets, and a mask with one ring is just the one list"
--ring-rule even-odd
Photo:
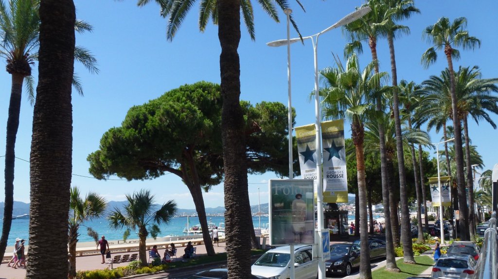
[(474, 278), (477, 262), (471, 255), (442, 255), (432, 268), (432, 278)]

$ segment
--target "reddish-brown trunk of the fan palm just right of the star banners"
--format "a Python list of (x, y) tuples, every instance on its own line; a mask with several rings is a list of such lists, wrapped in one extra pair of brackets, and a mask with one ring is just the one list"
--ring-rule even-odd
[(365, 157), (363, 153), (363, 126), (354, 120), (351, 125), (353, 131), (353, 141), (356, 147), (356, 168), (358, 175), (358, 196), (360, 200), (360, 247), (362, 256), (360, 257), (360, 279), (372, 279), (372, 269), (370, 267), (370, 247), (369, 232), (367, 223), (367, 187), (365, 183)]

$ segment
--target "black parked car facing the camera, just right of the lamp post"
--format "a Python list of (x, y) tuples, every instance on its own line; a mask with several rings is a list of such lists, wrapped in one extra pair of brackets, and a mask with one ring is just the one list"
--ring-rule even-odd
[(350, 275), (351, 270), (360, 267), (360, 246), (341, 243), (330, 246), (330, 260), (325, 261), (325, 271), (330, 274)]

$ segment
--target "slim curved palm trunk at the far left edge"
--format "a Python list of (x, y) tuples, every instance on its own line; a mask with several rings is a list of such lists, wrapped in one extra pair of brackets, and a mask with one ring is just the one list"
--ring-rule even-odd
[(17, 129), (19, 128), (23, 79), (23, 75), (12, 74), (12, 87), (10, 88), (10, 103), (8, 106), (5, 142), (5, 204), (3, 209), (3, 225), (0, 238), (0, 259), (3, 259), (3, 255), (5, 255), (8, 235), (12, 225), (12, 211), (14, 207), (15, 138), (17, 135)]

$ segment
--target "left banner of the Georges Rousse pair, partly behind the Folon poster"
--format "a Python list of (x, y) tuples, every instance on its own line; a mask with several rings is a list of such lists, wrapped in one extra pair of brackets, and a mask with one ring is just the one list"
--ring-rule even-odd
[(316, 188), (316, 129), (314, 124), (296, 127), (299, 167), (303, 179), (315, 180)]

